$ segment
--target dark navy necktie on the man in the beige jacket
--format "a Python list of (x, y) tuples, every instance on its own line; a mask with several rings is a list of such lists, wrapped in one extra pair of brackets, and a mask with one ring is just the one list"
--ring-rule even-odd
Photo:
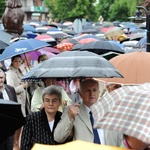
[[(92, 127), (93, 127), (93, 125), (94, 125), (94, 118), (93, 118), (92, 112), (90, 111), (89, 113), (90, 113), (91, 124), (92, 124)], [(97, 129), (93, 128), (93, 134), (94, 134), (94, 143), (100, 144), (100, 139), (99, 139), (99, 136), (98, 136)]]

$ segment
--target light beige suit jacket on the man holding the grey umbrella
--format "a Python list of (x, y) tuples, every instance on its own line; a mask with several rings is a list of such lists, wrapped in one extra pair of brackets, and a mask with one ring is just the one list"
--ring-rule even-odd
[[(77, 115), (72, 122), (70, 121), (67, 113), (68, 107), (64, 109), (61, 120), (54, 131), (54, 139), (57, 142), (63, 142), (70, 135), (73, 129), (74, 140), (93, 142), (93, 130), (85, 105), (80, 105), (80, 114)], [(122, 134), (115, 131), (104, 130), (104, 139), (106, 145), (120, 146)]]

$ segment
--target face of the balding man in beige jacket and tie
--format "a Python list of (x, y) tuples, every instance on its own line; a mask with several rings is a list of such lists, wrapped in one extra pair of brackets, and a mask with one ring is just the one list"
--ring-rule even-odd
[(82, 90), (80, 91), (80, 96), (83, 99), (83, 103), (91, 107), (95, 102), (97, 102), (99, 97), (99, 86), (95, 81), (87, 81), (84, 83)]

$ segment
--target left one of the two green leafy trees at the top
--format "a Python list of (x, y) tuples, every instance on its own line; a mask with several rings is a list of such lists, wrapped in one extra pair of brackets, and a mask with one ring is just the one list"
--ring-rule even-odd
[(52, 18), (73, 21), (86, 18), (95, 21), (98, 17), (94, 3), (96, 0), (45, 0)]

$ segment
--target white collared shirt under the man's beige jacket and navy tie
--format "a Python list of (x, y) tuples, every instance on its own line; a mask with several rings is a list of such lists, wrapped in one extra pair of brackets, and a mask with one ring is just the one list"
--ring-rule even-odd
[[(90, 108), (87, 107), (86, 105), (85, 105), (85, 108), (86, 108), (86, 111), (87, 111), (87, 113), (88, 113), (88, 115), (89, 115), (89, 119), (90, 119), (90, 114), (89, 114), (89, 112), (90, 112), (91, 110), (90, 110)], [(99, 135), (101, 144), (104, 145), (104, 144), (105, 144), (104, 130), (103, 130), (103, 129), (97, 129), (97, 132), (98, 132), (98, 135)]]

